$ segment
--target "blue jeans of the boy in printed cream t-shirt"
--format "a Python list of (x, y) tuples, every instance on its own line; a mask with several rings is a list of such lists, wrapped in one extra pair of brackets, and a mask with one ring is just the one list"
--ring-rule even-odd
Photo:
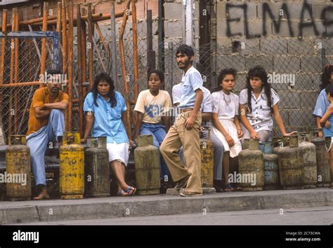
[[(152, 135), (152, 144), (158, 148), (162, 144), (164, 137), (166, 136), (165, 127), (159, 123), (142, 123), (140, 135)], [(169, 170), (164, 162), (163, 156), (159, 152), (159, 171), (162, 180), (169, 180)]]

